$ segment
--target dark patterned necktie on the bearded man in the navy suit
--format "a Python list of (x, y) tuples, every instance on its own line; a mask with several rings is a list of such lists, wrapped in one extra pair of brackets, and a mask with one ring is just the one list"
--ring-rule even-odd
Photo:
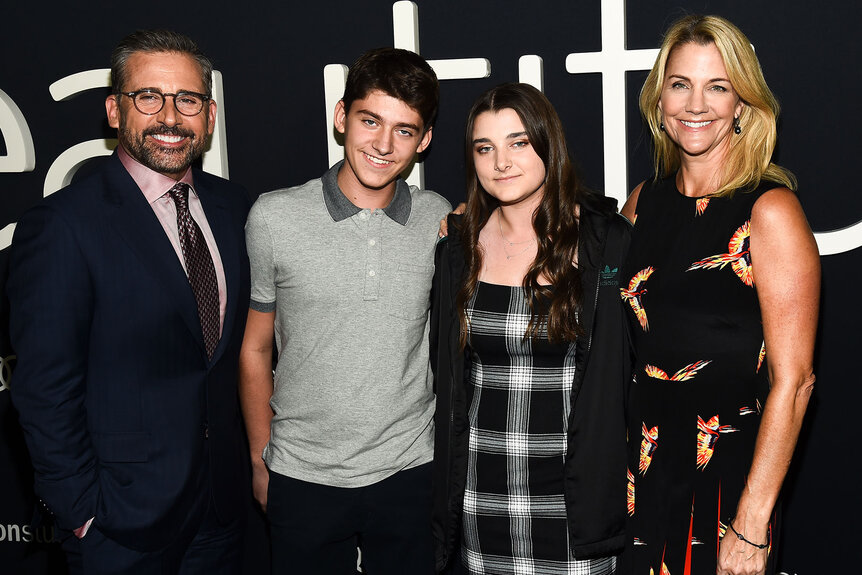
[(189, 284), (198, 303), (198, 317), (204, 332), (207, 357), (212, 359), (219, 340), (218, 282), (215, 266), (201, 229), (189, 211), (189, 185), (179, 182), (168, 192), (177, 208), (177, 228), (180, 232), (180, 247)]

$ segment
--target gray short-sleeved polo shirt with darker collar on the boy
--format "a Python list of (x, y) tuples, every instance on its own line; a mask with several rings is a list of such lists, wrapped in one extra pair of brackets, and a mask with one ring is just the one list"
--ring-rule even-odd
[(340, 167), (255, 202), (250, 307), (275, 311), (267, 466), (361, 487), (433, 456), (428, 309), (451, 206), (399, 179), (389, 206), (360, 209), (338, 188)]

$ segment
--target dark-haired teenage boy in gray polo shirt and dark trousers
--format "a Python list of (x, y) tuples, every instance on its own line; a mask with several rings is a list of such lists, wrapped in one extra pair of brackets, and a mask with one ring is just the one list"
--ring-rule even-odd
[(438, 93), (418, 55), (363, 54), (335, 107), (344, 160), (249, 214), (240, 397), (274, 573), (346, 573), (357, 546), (375, 575), (433, 573), (428, 308), (450, 205), (400, 174)]

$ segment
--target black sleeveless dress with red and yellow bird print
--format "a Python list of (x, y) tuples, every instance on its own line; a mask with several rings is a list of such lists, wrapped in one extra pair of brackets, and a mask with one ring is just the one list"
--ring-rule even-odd
[(748, 246), (754, 202), (774, 187), (689, 198), (671, 176), (640, 192), (620, 288), (637, 354), (624, 559), (632, 575), (715, 575), (769, 392)]

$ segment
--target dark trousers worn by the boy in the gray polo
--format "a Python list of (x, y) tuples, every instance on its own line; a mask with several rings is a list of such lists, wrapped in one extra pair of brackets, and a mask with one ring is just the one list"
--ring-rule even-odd
[(431, 464), (366, 487), (342, 488), (269, 474), (266, 514), (272, 572), (433, 575)]

